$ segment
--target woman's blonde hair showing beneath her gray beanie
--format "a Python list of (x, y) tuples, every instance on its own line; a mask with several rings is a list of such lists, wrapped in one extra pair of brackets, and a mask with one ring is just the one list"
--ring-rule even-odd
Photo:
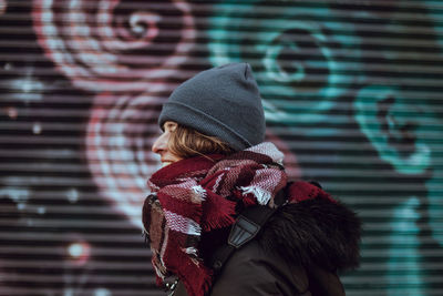
[(171, 134), (168, 150), (182, 159), (208, 154), (228, 155), (235, 152), (220, 139), (205, 135), (181, 124)]

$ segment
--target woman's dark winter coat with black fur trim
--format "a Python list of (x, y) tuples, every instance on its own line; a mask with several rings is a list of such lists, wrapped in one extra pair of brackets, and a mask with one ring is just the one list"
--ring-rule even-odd
[[(256, 239), (234, 253), (209, 295), (344, 295), (337, 273), (358, 266), (359, 242), (360, 222), (341, 203), (281, 206)], [(178, 284), (174, 296), (185, 295)]]

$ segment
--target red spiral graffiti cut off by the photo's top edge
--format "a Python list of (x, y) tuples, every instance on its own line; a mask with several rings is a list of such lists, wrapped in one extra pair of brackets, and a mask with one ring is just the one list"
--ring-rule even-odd
[(182, 0), (34, 0), (40, 45), (83, 90), (145, 91), (176, 74), (196, 35)]

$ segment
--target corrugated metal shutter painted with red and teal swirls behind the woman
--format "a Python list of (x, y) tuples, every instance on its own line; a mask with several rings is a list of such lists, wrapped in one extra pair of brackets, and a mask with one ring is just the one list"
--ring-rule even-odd
[(0, 0), (0, 295), (163, 295), (161, 103), (253, 64), (292, 177), (360, 213), (348, 295), (443, 295), (441, 1)]

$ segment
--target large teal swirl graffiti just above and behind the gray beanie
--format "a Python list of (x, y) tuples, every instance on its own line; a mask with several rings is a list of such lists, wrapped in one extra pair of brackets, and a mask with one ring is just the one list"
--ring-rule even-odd
[(214, 65), (251, 63), (268, 122), (339, 120), (327, 113), (358, 78), (360, 42), (327, 6), (217, 4), (208, 35)]

